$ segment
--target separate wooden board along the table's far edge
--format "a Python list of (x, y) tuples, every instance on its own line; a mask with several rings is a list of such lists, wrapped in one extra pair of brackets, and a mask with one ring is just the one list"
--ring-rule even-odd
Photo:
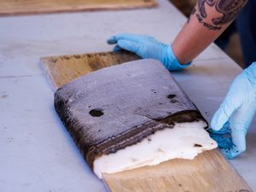
[(155, 0), (0, 0), (0, 15), (151, 8)]

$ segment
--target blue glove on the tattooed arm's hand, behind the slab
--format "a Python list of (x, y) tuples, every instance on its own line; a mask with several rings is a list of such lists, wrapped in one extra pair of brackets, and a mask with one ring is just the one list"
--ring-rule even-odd
[(170, 70), (180, 70), (190, 65), (181, 65), (173, 54), (169, 44), (162, 44), (155, 38), (146, 35), (123, 33), (108, 39), (108, 44), (117, 44), (114, 51), (119, 49), (129, 50), (142, 58), (153, 58), (161, 61)]

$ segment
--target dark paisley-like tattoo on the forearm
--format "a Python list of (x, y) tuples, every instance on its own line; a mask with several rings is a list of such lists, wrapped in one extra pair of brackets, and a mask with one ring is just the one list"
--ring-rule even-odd
[[(235, 20), (236, 15), (246, 3), (247, 0), (198, 0), (196, 8), (192, 10), (191, 15), (196, 15), (197, 20), (208, 29), (220, 30), (224, 24)], [(221, 16), (212, 18), (211, 22), (206, 21), (208, 16), (206, 6), (216, 9)]]

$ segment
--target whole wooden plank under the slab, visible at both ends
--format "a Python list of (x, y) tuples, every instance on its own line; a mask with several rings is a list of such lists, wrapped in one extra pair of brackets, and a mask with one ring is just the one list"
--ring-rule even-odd
[[(139, 59), (128, 52), (44, 57), (42, 66), (54, 89), (102, 67)], [(199, 154), (194, 160), (169, 160), (158, 166), (104, 174), (111, 192), (251, 192), (253, 191), (218, 149)]]

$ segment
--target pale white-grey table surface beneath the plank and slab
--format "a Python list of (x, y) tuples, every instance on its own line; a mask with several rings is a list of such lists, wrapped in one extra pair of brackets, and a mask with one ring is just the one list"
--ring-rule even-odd
[[(53, 90), (39, 58), (109, 51), (119, 32), (152, 35), (170, 43), (186, 21), (166, 0), (155, 9), (0, 18), (0, 191), (106, 191), (84, 162), (53, 106)], [(210, 120), (232, 79), (241, 72), (215, 45), (186, 71), (173, 73)], [(231, 160), (256, 190), (255, 119), (247, 151)]]

